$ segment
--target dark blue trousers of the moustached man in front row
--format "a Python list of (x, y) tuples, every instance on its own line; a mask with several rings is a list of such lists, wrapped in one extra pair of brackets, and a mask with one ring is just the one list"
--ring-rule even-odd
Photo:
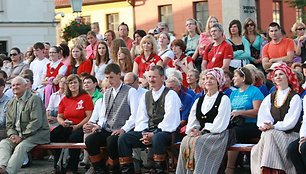
[[(119, 137), (118, 148), (120, 157), (131, 157), (133, 148), (147, 147), (140, 139), (142, 138), (141, 132), (128, 132)], [(171, 145), (171, 133), (158, 132), (152, 137), (152, 152), (153, 154), (163, 155), (167, 151), (167, 147)]]

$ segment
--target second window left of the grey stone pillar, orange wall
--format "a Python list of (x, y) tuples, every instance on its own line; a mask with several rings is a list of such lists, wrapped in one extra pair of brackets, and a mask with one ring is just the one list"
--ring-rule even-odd
[(173, 17), (172, 17), (172, 5), (159, 6), (159, 21), (168, 24), (169, 31), (173, 32)]

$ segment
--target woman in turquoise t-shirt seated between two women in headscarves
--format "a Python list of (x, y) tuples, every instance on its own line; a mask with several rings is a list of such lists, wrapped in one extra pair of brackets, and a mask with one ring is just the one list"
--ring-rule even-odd
[[(264, 96), (253, 86), (250, 70), (245, 67), (234, 71), (234, 86), (238, 87), (231, 93), (231, 123), (236, 135), (236, 143), (250, 143), (251, 139), (259, 138), (260, 131), (256, 126), (257, 113)], [(239, 152), (229, 151), (226, 174), (235, 173), (235, 164)]]

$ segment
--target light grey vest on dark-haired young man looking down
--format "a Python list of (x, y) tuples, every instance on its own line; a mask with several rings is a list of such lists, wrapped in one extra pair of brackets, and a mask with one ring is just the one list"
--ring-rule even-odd
[(112, 132), (120, 129), (129, 119), (131, 115), (131, 108), (128, 103), (130, 88), (130, 86), (122, 84), (115, 98), (112, 95), (112, 88), (105, 92), (105, 130)]

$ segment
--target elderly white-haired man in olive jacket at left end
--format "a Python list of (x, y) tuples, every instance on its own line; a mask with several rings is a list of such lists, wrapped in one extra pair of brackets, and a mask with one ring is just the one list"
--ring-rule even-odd
[(27, 81), (12, 81), (15, 97), (7, 104), (8, 138), (0, 142), (0, 174), (17, 173), (24, 157), (38, 144), (50, 142), (46, 109), (42, 100), (27, 90)]

